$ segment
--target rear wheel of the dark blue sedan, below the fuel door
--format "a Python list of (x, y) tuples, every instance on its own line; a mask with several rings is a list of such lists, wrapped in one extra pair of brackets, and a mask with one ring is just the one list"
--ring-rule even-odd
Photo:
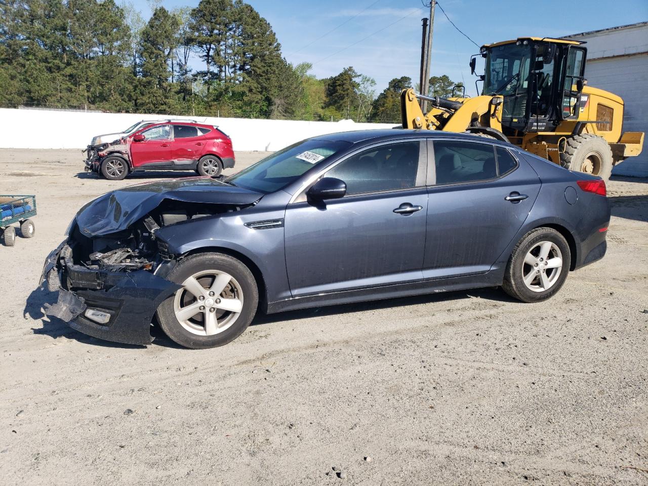
[(572, 263), (567, 240), (553, 228), (536, 228), (518, 242), (506, 266), (502, 288), (522, 302), (540, 302), (561, 289)]

